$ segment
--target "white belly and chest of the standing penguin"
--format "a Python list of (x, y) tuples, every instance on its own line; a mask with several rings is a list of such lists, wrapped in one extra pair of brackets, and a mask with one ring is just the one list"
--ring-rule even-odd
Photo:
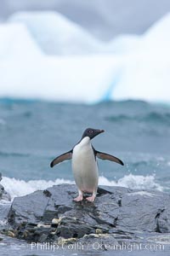
[(90, 193), (97, 190), (99, 171), (89, 137), (73, 148), (72, 171), (78, 189)]

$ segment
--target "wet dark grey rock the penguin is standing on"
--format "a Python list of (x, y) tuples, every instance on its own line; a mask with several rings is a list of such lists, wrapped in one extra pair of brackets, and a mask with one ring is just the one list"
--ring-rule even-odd
[[(0, 187), (0, 199), (7, 197)], [(170, 244), (170, 195), (160, 191), (100, 187), (94, 203), (74, 202), (77, 188), (59, 184), (14, 198), (0, 213), (1, 233), (28, 243), (101, 245)], [(8, 198), (9, 200), (9, 198)], [(1, 206), (1, 209), (3, 207)], [(3, 214), (3, 215), (2, 215)]]

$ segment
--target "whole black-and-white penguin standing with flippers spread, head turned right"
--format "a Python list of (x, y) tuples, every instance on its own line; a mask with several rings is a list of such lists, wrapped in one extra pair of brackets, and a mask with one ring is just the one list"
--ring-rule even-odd
[(104, 132), (92, 128), (86, 129), (79, 143), (70, 151), (59, 155), (50, 164), (51, 167), (59, 164), (64, 160), (72, 159), (72, 171), (78, 188), (78, 196), (74, 201), (82, 201), (83, 193), (92, 193), (92, 196), (86, 198), (88, 201), (94, 201), (99, 181), (99, 170), (96, 157), (101, 160), (111, 160), (120, 165), (124, 165), (122, 160), (111, 154), (106, 154), (96, 150), (91, 144), (91, 140)]

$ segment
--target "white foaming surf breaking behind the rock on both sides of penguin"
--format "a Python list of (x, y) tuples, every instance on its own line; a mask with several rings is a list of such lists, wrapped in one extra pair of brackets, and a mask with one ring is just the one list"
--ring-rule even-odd
[[(30, 180), (28, 182), (16, 178), (3, 177), (1, 181), (5, 190), (11, 195), (11, 198), (28, 195), (38, 189), (47, 189), (51, 186), (60, 184), (60, 183), (70, 183), (74, 182), (71, 180), (66, 180), (63, 178), (57, 178), (54, 181), (46, 180)], [(125, 175), (117, 181), (109, 180), (104, 176), (99, 177), (99, 185), (106, 186), (121, 186), (130, 189), (157, 189), (163, 190), (159, 183), (156, 183), (155, 176), (140, 176), (140, 175)]]

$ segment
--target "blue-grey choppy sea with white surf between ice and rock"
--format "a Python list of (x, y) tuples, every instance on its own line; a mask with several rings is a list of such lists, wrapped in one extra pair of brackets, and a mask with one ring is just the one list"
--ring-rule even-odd
[(125, 166), (99, 162), (99, 184), (170, 191), (170, 108), (142, 101), (94, 105), (0, 100), (0, 172), (12, 198), (74, 183), (71, 161), (50, 168), (87, 128), (104, 129), (94, 148)]

